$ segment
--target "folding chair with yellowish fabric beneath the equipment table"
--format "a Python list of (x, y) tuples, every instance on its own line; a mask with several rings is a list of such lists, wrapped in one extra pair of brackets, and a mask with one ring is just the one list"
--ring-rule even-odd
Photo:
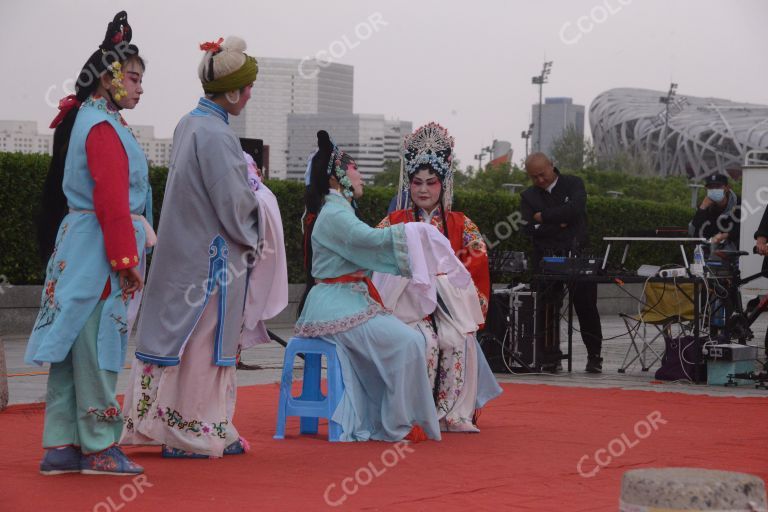
[[(673, 281), (648, 282), (643, 294), (643, 308), (638, 315), (619, 313), (627, 327), (630, 344), (619, 373), (626, 372), (635, 361), (640, 360), (640, 367), (647, 372), (651, 366), (661, 359), (664, 354), (663, 344), (657, 351), (653, 344), (656, 340), (672, 337), (672, 326), (678, 324), (681, 332), (692, 328), (694, 318), (693, 283), (677, 284)], [(648, 325), (656, 329), (655, 335), (649, 340), (646, 328)], [(642, 336), (640, 328), (642, 327)], [(630, 356), (634, 352), (634, 356)], [(651, 355), (648, 354), (650, 352)], [(629, 361), (628, 361), (629, 359)]]

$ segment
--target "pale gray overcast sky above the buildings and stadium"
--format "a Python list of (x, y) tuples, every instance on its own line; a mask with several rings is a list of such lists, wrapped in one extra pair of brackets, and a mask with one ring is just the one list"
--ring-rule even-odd
[(682, 95), (768, 104), (765, 0), (2, 0), (0, 119), (47, 130), (120, 9), (148, 63), (125, 117), (160, 137), (201, 93), (197, 45), (230, 34), (257, 57), (332, 51), (355, 66), (356, 113), (437, 121), (464, 165), (494, 138), (522, 157), (544, 60), (554, 61), (544, 95), (587, 109), (607, 89), (671, 81)]

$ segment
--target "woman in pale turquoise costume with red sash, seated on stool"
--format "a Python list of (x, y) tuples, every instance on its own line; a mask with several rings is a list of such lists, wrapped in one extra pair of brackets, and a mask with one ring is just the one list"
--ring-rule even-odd
[(307, 290), (296, 334), (336, 345), (344, 396), (333, 420), (342, 441), (420, 440), (424, 433), (439, 440), (424, 338), (384, 311), (369, 279), (371, 270), (411, 275), (404, 227), (374, 229), (358, 219), (357, 166), (327, 132), (317, 139), (307, 169)]

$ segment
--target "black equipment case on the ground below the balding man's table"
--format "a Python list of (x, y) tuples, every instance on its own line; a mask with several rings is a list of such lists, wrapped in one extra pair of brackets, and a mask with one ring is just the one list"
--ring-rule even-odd
[(560, 303), (536, 292), (494, 290), (480, 346), (494, 372), (541, 371), (546, 349), (560, 346)]

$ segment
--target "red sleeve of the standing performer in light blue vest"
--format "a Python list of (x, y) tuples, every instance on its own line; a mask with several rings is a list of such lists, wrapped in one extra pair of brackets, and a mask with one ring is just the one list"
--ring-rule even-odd
[(93, 206), (104, 234), (112, 270), (139, 264), (136, 235), (128, 205), (128, 155), (107, 122), (91, 128), (85, 142), (88, 170), (94, 181)]

